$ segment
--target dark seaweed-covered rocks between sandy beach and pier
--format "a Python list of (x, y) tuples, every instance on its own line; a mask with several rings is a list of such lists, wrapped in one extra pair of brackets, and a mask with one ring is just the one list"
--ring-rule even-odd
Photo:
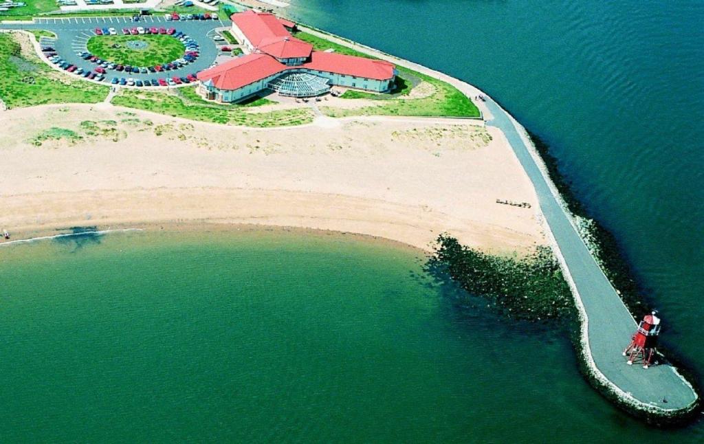
[(473, 296), (486, 298), (504, 315), (539, 321), (571, 319), (574, 301), (560, 265), (548, 247), (525, 258), (490, 255), (441, 235), (431, 272), (448, 274)]

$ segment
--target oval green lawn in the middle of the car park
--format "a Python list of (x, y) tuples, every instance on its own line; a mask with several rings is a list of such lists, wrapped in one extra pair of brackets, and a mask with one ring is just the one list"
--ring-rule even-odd
[[(144, 49), (131, 49), (127, 42), (146, 42)], [(88, 51), (99, 58), (121, 65), (162, 65), (183, 57), (186, 47), (165, 34), (96, 35), (88, 40)]]

